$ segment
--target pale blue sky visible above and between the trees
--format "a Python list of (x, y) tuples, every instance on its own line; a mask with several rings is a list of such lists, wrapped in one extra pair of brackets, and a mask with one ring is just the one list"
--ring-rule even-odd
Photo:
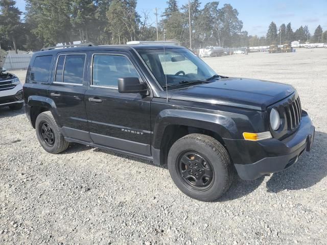
[[(201, 8), (208, 2), (213, 1), (202, 0)], [(187, 3), (188, 0), (178, 1), (179, 7)], [(220, 7), (224, 4), (230, 4), (238, 10), (239, 19), (243, 21), (243, 31), (248, 31), (249, 35), (265, 36), (271, 21), (274, 21), (277, 27), (282, 23), (291, 22), (293, 31), (307, 24), (311, 34), (314, 33), (318, 24), (321, 25), (323, 31), (327, 30), (327, 0), (219, 1)], [(25, 12), (24, 0), (16, 0), (16, 6), (20, 11)], [(138, 13), (143, 10), (149, 11), (151, 21), (154, 23), (155, 8), (158, 8), (161, 14), (166, 7), (166, 0), (138, 0), (136, 10)]]

